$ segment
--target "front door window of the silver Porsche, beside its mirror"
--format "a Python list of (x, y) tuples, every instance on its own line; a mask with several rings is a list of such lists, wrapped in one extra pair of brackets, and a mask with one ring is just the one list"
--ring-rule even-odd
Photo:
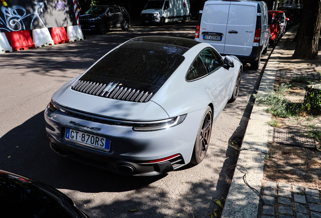
[(216, 71), (223, 66), (223, 60), (221, 56), (213, 49), (206, 48), (200, 53), (200, 58), (204, 63), (207, 73)]

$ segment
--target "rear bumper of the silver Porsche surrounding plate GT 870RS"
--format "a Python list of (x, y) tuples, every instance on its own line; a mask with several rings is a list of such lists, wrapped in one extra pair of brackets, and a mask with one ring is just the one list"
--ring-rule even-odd
[[(46, 109), (44, 118), (50, 147), (57, 154), (117, 174), (156, 176), (183, 167), (190, 161), (201, 113), (200, 110), (188, 114), (182, 124), (170, 129), (150, 132), (134, 132), (131, 126), (97, 123), (58, 110), (50, 112)], [(75, 123), (81, 125), (75, 126)], [(101, 151), (67, 141), (64, 139), (66, 128), (110, 139), (110, 150)]]

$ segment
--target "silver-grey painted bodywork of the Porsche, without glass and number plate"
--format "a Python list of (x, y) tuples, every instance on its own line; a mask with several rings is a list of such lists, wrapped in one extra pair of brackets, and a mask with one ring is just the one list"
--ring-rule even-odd
[[(45, 110), (46, 131), (51, 148), (59, 145), (62, 151), (68, 150), (71, 155), (79, 154), (101, 162), (109, 162), (112, 158), (117, 159), (116, 162), (123, 161), (126, 164), (129, 162), (133, 165), (136, 164), (132, 163), (133, 161), (155, 160), (180, 154), (183, 163), (178, 167), (184, 166), (191, 160), (197, 131), (206, 106), (212, 107), (213, 122), (215, 122), (231, 98), (239, 69), (242, 68), (241, 62), (232, 56), (233, 68), (227, 70), (221, 67), (209, 75), (194, 81), (186, 81), (186, 74), (191, 64), (207, 47), (213, 48), (207, 43), (199, 43), (185, 52), (183, 63), (148, 102), (103, 98), (72, 90), (71, 86), (91, 66), (84, 74), (73, 78), (53, 94), (52, 102), (57, 102), (67, 112), (64, 110), (51, 112), (48, 108)], [(181, 124), (158, 131), (137, 132), (133, 130), (135, 125), (122, 123), (148, 123), (181, 115), (186, 115)], [(99, 119), (113, 119), (116, 122), (110, 125), (97, 121)], [(102, 151), (67, 141), (64, 139), (66, 128), (107, 138), (111, 142), (111, 148), (109, 151)], [(120, 173), (116, 168), (117, 166), (114, 166), (109, 170)]]

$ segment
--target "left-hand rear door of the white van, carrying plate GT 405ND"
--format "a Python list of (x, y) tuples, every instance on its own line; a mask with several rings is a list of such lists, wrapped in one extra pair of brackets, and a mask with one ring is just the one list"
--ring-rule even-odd
[(208, 2), (203, 9), (199, 41), (211, 44), (220, 53), (224, 53), (229, 9), (230, 2), (216, 1)]

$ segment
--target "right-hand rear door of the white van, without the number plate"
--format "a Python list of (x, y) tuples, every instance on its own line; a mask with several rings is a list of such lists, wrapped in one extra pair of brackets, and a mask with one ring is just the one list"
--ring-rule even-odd
[(224, 53), (249, 56), (252, 52), (257, 9), (254, 5), (231, 2)]

